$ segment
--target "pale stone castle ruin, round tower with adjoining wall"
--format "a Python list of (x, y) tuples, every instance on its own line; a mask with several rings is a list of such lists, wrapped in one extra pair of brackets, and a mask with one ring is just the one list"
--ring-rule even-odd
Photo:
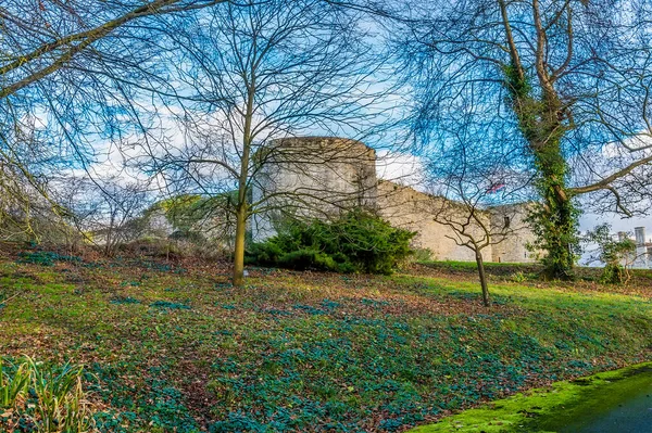
[[(353, 206), (377, 212), (392, 226), (416, 231), (415, 247), (429, 250), (438, 260), (475, 260), (472, 250), (451, 238), (453, 230), (434, 220), (434, 212), (447, 199), (378, 179), (376, 152), (355, 140), (302, 137), (276, 140), (255, 175), (252, 202), (262, 203), (253, 215), (253, 241), (277, 232), (286, 217), (337, 215)], [(447, 201), (447, 204), (454, 202)], [(462, 212), (462, 211), (461, 211)], [(526, 206), (497, 206), (482, 211), (488, 227), (507, 227), (510, 234), (482, 250), (487, 262), (528, 263), (537, 256), (526, 245), (534, 240), (525, 224)]]

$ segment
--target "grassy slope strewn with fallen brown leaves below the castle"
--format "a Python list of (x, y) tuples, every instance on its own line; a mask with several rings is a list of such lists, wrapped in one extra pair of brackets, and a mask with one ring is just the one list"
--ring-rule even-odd
[(111, 432), (405, 430), (652, 359), (652, 290), (252, 273), (4, 259), (0, 353), (84, 362)]

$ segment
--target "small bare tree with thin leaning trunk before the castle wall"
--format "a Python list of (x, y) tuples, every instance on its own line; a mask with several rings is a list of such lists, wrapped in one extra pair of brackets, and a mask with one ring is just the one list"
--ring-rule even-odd
[[(452, 234), (446, 237), (473, 252), (482, 302), (489, 306), (484, 252), (527, 228), (525, 214), (529, 205), (521, 202), (527, 182), (515, 169), (510, 153), (482, 141), (468, 143), (469, 132), (459, 130), (457, 140), (442, 148), (448, 152), (443, 157), (427, 166), (432, 195), (429, 207), (432, 219), (450, 229)], [(478, 133), (474, 130), (472, 136)]]

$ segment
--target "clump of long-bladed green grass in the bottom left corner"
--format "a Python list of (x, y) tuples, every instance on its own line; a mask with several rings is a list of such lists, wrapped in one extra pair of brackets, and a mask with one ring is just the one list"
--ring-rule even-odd
[(47, 367), (25, 357), (8, 368), (0, 362), (0, 428), (28, 425), (35, 433), (95, 431), (79, 366)]

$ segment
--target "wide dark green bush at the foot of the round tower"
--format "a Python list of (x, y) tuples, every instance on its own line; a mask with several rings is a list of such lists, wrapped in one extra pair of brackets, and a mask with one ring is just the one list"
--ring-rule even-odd
[(252, 244), (247, 260), (299, 270), (391, 273), (412, 254), (410, 241), (415, 234), (358, 209), (334, 221), (289, 222), (275, 237)]

